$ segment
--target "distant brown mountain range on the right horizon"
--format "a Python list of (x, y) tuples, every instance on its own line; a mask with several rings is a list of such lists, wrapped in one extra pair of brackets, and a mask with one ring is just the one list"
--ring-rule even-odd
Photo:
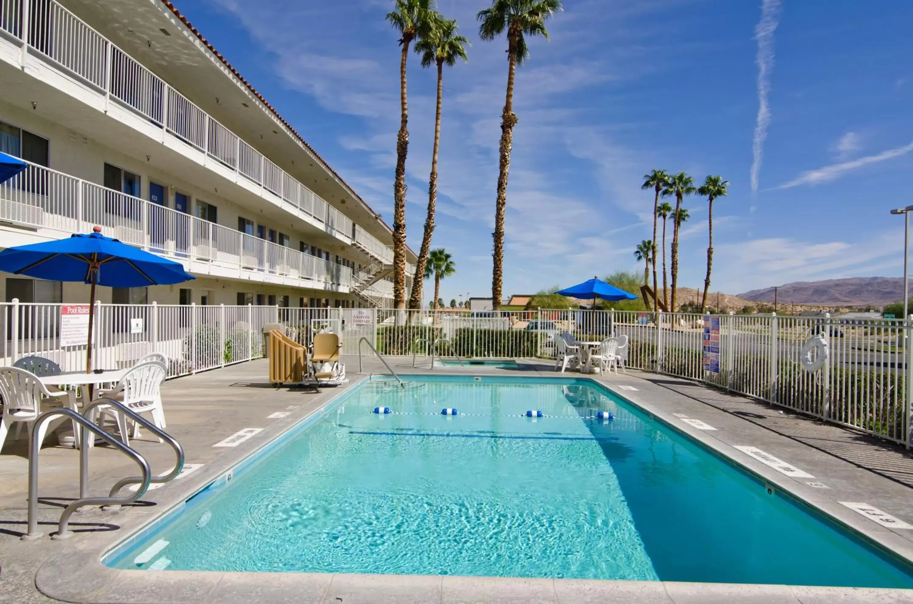
[[(861, 276), (824, 281), (797, 281), (777, 288), (780, 304), (823, 307), (884, 306), (904, 297), (904, 280), (893, 276)], [(773, 303), (773, 287), (753, 289), (739, 297)]]

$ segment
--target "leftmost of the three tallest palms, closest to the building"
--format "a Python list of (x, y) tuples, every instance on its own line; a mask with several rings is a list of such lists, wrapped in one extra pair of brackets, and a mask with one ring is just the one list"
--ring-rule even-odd
[[(394, 307), (405, 307), (405, 156), (409, 151), (409, 109), (405, 95), (405, 60), (409, 45), (421, 36), (434, 11), (434, 0), (396, 0), (387, 21), (399, 32), (400, 56), (400, 130), (396, 134), (396, 172), (394, 178)], [(415, 280), (415, 277), (413, 278)]]

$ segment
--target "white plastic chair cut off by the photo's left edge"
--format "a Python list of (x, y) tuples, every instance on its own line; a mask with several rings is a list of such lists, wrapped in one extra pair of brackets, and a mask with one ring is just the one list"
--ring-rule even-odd
[[(31, 371), (16, 367), (0, 367), (0, 396), (3, 397), (3, 419), (0, 420), (0, 450), (3, 449), (6, 433), (9, 432), (9, 428), (13, 423), (19, 423), (16, 426), (17, 436), (22, 430), (23, 423), (26, 424), (29, 433), (31, 433), (32, 424), (37, 420), (38, 415), (41, 414), (41, 401), (43, 399), (62, 400), (64, 407), (77, 411), (76, 397), (72, 391), (50, 391), (47, 386), (41, 383), (37, 375)], [(40, 447), (40, 443), (44, 442), (51, 424), (57, 426), (66, 421), (67, 418), (61, 417), (52, 422), (45, 422), (37, 434), (38, 446)], [(74, 436), (77, 434), (76, 428), (76, 422), (74, 422)]]

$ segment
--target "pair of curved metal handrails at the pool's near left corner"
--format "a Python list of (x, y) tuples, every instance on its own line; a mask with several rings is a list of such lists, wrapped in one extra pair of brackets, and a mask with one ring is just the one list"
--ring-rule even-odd
[[(136, 450), (132, 449), (129, 445), (121, 443), (120, 440), (102, 430), (95, 422), (92, 422), (91, 419), (89, 419), (89, 413), (95, 411), (95, 408), (100, 405), (114, 407), (118, 412), (123, 413), (133, 422), (139, 423), (143, 428), (146, 428), (161, 438), (165, 443), (171, 445), (176, 458), (173, 470), (167, 474), (153, 476), (149, 469), (149, 462), (147, 462), (140, 453), (137, 453)], [(45, 411), (38, 416), (37, 420), (32, 425), (32, 431), (28, 442), (28, 529), (26, 534), (22, 536), (24, 541), (33, 541), (43, 535), (43, 533), (38, 530), (38, 450), (41, 448), (41, 443), (38, 442), (37, 433), (42, 425), (61, 415), (68, 417), (73, 422), (79, 423), (81, 426), (79, 434), (79, 499), (73, 501), (64, 509), (58, 522), (58, 532), (51, 536), (52, 539), (66, 539), (68, 536), (73, 535), (72, 531), (69, 530), (69, 518), (77, 509), (79, 509), (79, 507), (84, 505), (120, 506), (131, 504), (142, 497), (142, 495), (145, 495), (150, 484), (167, 483), (173, 480), (181, 473), (181, 470), (184, 469), (184, 449), (181, 447), (181, 443), (178, 443), (171, 434), (163, 432), (163, 430), (146, 420), (139, 413), (124, 406), (121, 401), (115, 401), (114, 399), (109, 398), (91, 401), (82, 411), (82, 414), (71, 409)], [(122, 478), (111, 487), (107, 497), (89, 497), (89, 446), (87, 445), (90, 438), (89, 432), (100, 436), (118, 451), (130, 457), (140, 466), (142, 475)], [(131, 495), (115, 497), (114, 495), (127, 484), (139, 484), (140, 486), (136, 489), (136, 492)]]

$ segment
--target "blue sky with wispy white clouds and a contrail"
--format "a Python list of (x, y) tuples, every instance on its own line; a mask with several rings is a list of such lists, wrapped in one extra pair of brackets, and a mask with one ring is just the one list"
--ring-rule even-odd
[[(643, 270), (645, 172), (729, 180), (714, 204), (713, 291), (900, 276), (913, 203), (907, 2), (565, 0), (519, 68), (505, 295)], [(824, 10), (826, 4), (827, 9)], [(179, 8), (391, 223), (398, 128), (393, 0), (180, 0)], [(437, 229), (449, 300), (490, 295), (506, 41), (482, 42), (486, 0), (438, 0), (473, 42), (446, 70)], [(762, 68), (762, 69), (761, 69)], [(761, 78), (759, 71), (762, 70)], [(409, 65), (406, 220), (422, 236), (435, 75)], [(759, 111), (766, 107), (766, 110)], [(752, 187), (751, 175), (757, 176)], [(686, 200), (680, 286), (700, 286), (707, 203)]]

